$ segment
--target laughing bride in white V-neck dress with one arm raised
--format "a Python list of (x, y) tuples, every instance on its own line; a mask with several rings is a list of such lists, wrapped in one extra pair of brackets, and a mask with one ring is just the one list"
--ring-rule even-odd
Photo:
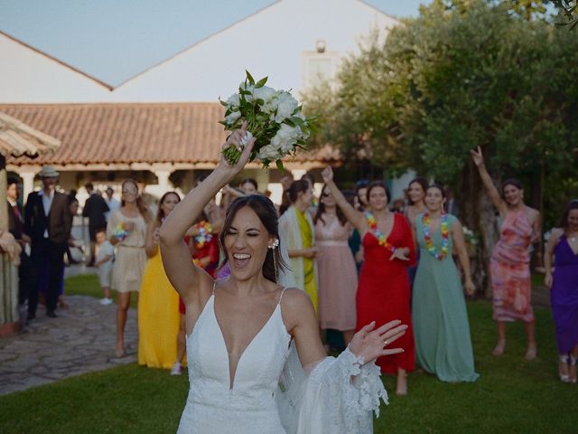
[[(247, 141), (246, 127), (229, 143)], [(264, 195), (238, 197), (227, 211), (220, 243), (231, 269), (214, 281), (194, 266), (182, 241), (197, 215), (247, 163), (221, 157), (217, 168), (171, 212), (160, 232), (166, 274), (186, 307), (191, 389), (179, 434), (373, 432), (372, 410), (387, 394), (374, 360), (406, 331), (393, 321), (353, 336), (339, 357), (327, 357), (311, 299), (283, 288), (275, 206)], [(296, 350), (296, 352), (295, 352)]]

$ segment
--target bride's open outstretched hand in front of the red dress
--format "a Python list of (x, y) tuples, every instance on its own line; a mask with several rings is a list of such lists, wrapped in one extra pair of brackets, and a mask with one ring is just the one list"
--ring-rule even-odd
[(350, 352), (362, 357), (364, 363), (372, 362), (382, 355), (402, 353), (403, 348), (391, 348), (396, 339), (406, 334), (407, 325), (401, 321), (390, 321), (385, 325), (376, 327), (376, 322), (364, 326), (358, 333), (353, 335), (350, 342)]

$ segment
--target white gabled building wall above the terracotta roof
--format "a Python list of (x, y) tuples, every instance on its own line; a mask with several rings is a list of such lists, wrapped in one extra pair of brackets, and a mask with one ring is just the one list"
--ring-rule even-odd
[(315, 52), (315, 42), (325, 41), (327, 52), (342, 57), (357, 50), (361, 35), (396, 23), (359, 0), (282, 0), (112, 92), (12, 42), (17, 50), (4, 38), (0, 53), (13, 67), (0, 70), (0, 101), (215, 101), (237, 90), (246, 69), (256, 79), (269, 76), (268, 84), (274, 88), (298, 92), (303, 52)]

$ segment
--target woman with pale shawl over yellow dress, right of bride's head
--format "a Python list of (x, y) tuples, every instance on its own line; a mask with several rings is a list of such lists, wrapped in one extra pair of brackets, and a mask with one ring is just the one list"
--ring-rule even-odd
[(291, 206), (279, 218), (279, 226), (291, 261), (297, 288), (303, 289), (317, 309), (317, 264), (315, 257), (315, 230), (307, 210), (313, 200), (312, 184), (306, 179), (294, 181), (289, 188)]

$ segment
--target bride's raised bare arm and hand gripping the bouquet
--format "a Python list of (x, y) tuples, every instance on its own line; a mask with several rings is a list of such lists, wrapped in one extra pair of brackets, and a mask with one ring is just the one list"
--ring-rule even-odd
[[(223, 148), (231, 143), (243, 143), (246, 137), (247, 125), (245, 124), (228, 137)], [(192, 189), (163, 222), (160, 231), (160, 247), (164, 270), (172, 287), (177, 290), (185, 304), (193, 295), (199, 293), (201, 285), (212, 286), (212, 279), (206, 272), (192, 264), (191, 253), (183, 237), (205, 205), (247, 164), (254, 144), (254, 138), (249, 140), (238, 163), (234, 166), (228, 165), (221, 156), (217, 168), (201, 184)]]

